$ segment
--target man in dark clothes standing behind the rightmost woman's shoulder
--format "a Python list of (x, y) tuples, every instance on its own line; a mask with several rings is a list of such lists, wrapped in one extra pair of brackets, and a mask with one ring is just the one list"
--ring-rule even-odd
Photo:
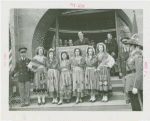
[[(107, 39), (104, 41), (106, 45), (107, 52), (116, 60), (118, 57), (118, 44), (115, 39), (112, 38), (112, 34), (107, 34)], [(110, 70), (110, 74), (114, 76), (115, 68), (114, 66)]]

